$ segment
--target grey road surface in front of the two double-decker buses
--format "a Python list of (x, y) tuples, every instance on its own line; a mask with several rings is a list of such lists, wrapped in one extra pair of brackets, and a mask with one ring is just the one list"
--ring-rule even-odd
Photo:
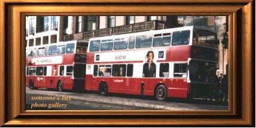
[[(42, 98), (53, 98), (42, 100)], [(38, 99), (36, 99), (38, 98)], [(41, 99), (40, 99), (41, 98)], [(59, 98), (59, 99), (57, 99)], [(40, 100), (39, 100), (40, 99)], [(41, 104), (41, 106), (39, 105)], [(32, 107), (33, 105), (33, 107)], [(50, 106), (50, 107), (49, 107)], [(228, 110), (227, 105), (203, 100), (187, 101), (170, 98), (156, 101), (153, 96), (136, 96), (97, 92), (57, 92), (55, 90), (26, 87), (26, 110)]]

